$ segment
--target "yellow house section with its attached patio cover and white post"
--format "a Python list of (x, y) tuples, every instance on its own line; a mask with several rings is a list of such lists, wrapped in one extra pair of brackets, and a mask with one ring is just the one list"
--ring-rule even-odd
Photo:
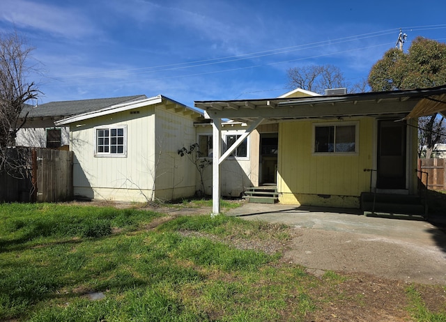
[[(195, 101), (213, 124), (213, 213), (222, 162), (260, 125), (278, 123), (283, 204), (360, 208), (361, 195), (417, 194), (417, 116), (445, 109), (446, 86), (300, 98)], [(246, 123), (221, 154), (222, 120)], [(215, 153), (219, 151), (219, 153)]]

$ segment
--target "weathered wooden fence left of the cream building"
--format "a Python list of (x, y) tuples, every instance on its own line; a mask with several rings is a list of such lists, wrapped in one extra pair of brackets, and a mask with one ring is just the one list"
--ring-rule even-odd
[(29, 148), (29, 176), (0, 174), (0, 201), (56, 202), (72, 199), (72, 151)]

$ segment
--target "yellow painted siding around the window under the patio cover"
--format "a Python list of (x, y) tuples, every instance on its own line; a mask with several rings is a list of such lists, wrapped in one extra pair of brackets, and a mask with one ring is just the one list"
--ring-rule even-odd
[[(314, 121), (280, 124), (277, 185), (282, 202), (330, 204), (328, 199), (342, 196), (343, 206), (358, 206), (355, 200), (361, 192), (369, 191), (370, 186), (370, 172), (364, 169), (370, 169), (373, 162), (374, 118), (348, 121), (358, 121), (359, 126), (359, 151), (352, 155), (314, 154)], [(333, 204), (339, 206), (339, 201)]]

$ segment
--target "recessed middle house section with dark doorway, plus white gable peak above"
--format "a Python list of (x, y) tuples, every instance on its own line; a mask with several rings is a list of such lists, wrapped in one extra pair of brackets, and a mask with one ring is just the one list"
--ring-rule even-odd
[[(318, 93), (294, 89), (279, 98), (303, 98), (320, 96)], [(230, 148), (236, 139), (246, 132), (248, 124), (236, 121), (222, 122), (222, 152)], [(196, 124), (197, 142), (203, 158), (212, 154), (213, 130), (211, 123)], [(240, 146), (222, 162), (220, 194), (224, 197), (240, 197), (247, 187), (275, 185), (277, 183), (277, 146), (279, 123), (265, 122), (249, 133)], [(212, 169), (204, 174), (206, 194), (212, 194)]]

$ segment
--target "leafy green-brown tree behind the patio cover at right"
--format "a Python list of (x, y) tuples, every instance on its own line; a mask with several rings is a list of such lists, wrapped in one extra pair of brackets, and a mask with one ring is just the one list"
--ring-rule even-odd
[[(423, 89), (446, 84), (446, 44), (417, 37), (407, 53), (399, 49), (385, 52), (371, 68), (368, 78), (372, 91), (393, 91), (398, 89)], [(433, 114), (420, 118), (419, 151), (431, 158), (436, 144), (446, 135), (444, 118)]]

